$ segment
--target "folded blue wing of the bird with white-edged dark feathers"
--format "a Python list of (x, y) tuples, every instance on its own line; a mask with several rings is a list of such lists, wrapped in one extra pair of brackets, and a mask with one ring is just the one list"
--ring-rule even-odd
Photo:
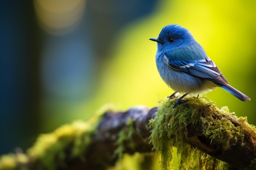
[(219, 68), (207, 56), (199, 60), (172, 60), (166, 55), (165, 57), (168, 59), (168, 66), (177, 71), (208, 79), (218, 84), (228, 84), (227, 79), (222, 75)]

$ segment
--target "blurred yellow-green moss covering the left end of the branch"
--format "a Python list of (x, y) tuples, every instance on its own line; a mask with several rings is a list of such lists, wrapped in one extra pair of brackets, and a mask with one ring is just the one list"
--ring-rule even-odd
[[(31, 163), (35, 170), (55, 170), (65, 167), (65, 159), (78, 158), (83, 161), (83, 155), (91, 142), (92, 135), (100, 117), (90, 121), (75, 121), (66, 124), (49, 134), (40, 135), (26, 154), (9, 154), (0, 158), (0, 170), (14, 170), (18, 166), (26, 170), (26, 164)], [(65, 151), (69, 151), (66, 153)]]

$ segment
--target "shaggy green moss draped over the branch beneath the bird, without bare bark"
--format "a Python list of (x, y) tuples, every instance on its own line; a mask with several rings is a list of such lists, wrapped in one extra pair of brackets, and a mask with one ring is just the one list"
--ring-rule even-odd
[(241, 145), (244, 145), (246, 130), (241, 130), (240, 126), (235, 127), (227, 119), (229, 115), (238, 119), (245, 129), (256, 130), (247, 123), (246, 118), (237, 118), (234, 113), (229, 113), (227, 107), (216, 108), (215, 104), (205, 97), (191, 98), (189, 102), (180, 104), (176, 108), (173, 108), (174, 102), (174, 99), (162, 99), (155, 119), (150, 121), (153, 128), (150, 139), (154, 149), (161, 155), (164, 170), (171, 168), (173, 147), (177, 148), (180, 170), (227, 169), (224, 162), (192, 148), (186, 142), (189, 127), (200, 124), (203, 135), (209, 137), (213, 144), (222, 144), (223, 150), (229, 149), (231, 141), (239, 140)]

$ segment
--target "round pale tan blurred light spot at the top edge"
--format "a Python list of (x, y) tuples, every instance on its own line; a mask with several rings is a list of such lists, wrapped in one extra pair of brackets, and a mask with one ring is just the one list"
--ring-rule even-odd
[(50, 34), (75, 29), (85, 12), (85, 0), (34, 0), (38, 24)]

